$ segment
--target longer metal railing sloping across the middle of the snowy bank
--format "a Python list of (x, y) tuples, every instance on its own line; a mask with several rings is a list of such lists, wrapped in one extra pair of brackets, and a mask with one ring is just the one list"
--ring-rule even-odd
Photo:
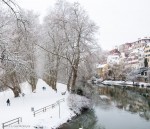
[(64, 102), (64, 101), (65, 101), (65, 99), (63, 98), (63, 99), (56, 101), (55, 103), (53, 103), (51, 105), (48, 105), (48, 106), (45, 106), (45, 107), (40, 108), (38, 110), (35, 110), (35, 111), (33, 111), (33, 116), (35, 117), (35, 115), (38, 113), (46, 112), (50, 108), (55, 108), (55, 106), (59, 105), (61, 102)]

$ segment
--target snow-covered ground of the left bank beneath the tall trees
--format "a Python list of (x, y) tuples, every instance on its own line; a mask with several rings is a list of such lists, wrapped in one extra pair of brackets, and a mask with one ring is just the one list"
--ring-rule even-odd
[[(46, 90), (42, 89), (43, 86), (46, 87)], [(23, 83), (21, 87), (22, 93), (25, 94), (24, 97), (21, 96), (14, 98), (11, 90), (0, 92), (0, 128), (2, 128), (2, 123), (21, 117), (22, 122), (20, 124), (15, 123), (6, 128), (38, 129), (39, 127), (43, 127), (43, 129), (55, 129), (61, 124), (65, 123), (68, 119), (71, 119), (73, 116), (75, 116), (76, 112), (79, 113), (79, 110), (82, 106), (89, 105), (89, 103), (86, 102), (86, 98), (79, 96), (75, 97), (75, 95), (71, 96), (74, 96), (75, 100), (79, 100), (80, 103), (81, 101), (84, 101), (83, 104), (80, 104), (78, 107), (77, 103), (68, 103), (70, 94), (67, 92), (67, 87), (64, 84), (57, 84), (57, 92), (41, 79), (38, 80), (35, 93), (31, 92), (31, 87), (28, 83)], [(65, 95), (62, 95), (63, 92), (65, 92)], [(6, 105), (6, 100), (8, 98), (10, 99), (10, 106)], [(60, 99), (65, 100), (64, 102), (60, 103), (60, 107), (56, 105), (55, 108), (50, 108), (45, 112), (40, 112), (34, 117), (31, 109), (34, 108), (34, 110), (38, 110), (45, 106), (56, 103), (56, 101)], [(76, 105), (75, 107), (77, 108), (71, 110), (72, 107), (69, 107), (69, 105), (71, 106), (72, 104)]]

